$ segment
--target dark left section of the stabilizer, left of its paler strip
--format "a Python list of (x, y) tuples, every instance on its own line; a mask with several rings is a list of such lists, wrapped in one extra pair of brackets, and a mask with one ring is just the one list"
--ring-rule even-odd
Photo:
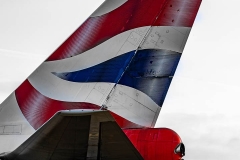
[(9, 160), (86, 157), (90, 118), (90, 115), (62, 116), (61, 113), (58, 113), (15, 151), (5, 157)]

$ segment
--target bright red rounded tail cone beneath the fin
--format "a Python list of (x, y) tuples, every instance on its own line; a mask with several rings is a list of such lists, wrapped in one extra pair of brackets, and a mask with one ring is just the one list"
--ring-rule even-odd
[(175, 160), (185, 155), (181, 138), (171, 129), (145, 128), (123, 131), (145, 160)]

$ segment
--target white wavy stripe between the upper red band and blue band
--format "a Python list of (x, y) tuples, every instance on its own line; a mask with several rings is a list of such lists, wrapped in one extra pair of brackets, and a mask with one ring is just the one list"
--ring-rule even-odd
[[(182, 53), (190, 30), (189, 27), (171, 26), (135, 28), (114, 36), (77, 56), (44, 62), (37, 70), (44, 72), (78, 71), (137, 49), (164, 49)], [(148, 36), (145, 36), (147, 32)]]

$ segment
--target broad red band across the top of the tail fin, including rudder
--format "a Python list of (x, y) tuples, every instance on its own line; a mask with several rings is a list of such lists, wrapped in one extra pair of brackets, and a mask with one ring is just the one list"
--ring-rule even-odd
[[(134, 28), (191, 27), (199, 5), (200, 1), (192, 0), (128, 0), (107, 14), (88, 18), (47, 61), (76, 56)], [(105, 8), (105, 5), (98, 10), (101, 8)]]

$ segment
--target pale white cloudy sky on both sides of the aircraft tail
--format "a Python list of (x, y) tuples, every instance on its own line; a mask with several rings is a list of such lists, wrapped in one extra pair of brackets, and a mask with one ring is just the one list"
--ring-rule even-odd
[[(0, 103), (103, 0), (0, 0)], [(239, 0), (203, 0), (156, 127), (186, 160), (240, 159)]]

